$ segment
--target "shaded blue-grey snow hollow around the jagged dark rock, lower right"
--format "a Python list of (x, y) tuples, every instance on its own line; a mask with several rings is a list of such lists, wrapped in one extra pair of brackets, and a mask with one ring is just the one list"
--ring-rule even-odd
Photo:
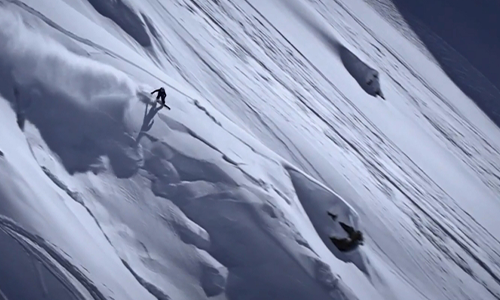
[[(340, 222), (360, 230), (356, 211), (340, 196), (308, 179), (304, 174), (293, 169), (288, 169), (288, 172), (302, 207), (328, 249), (338, 259), (352, 262), (366, 275), (370, 275), (365, 257), (359, 251), (359, 247), (362, 246), (344, 252), (340, 251), (330, 239), (331, 237), (348, 238), (347, 232), (342, 228)], [(335, 215), (336, 219), (333, 220), (328, 213)]]

